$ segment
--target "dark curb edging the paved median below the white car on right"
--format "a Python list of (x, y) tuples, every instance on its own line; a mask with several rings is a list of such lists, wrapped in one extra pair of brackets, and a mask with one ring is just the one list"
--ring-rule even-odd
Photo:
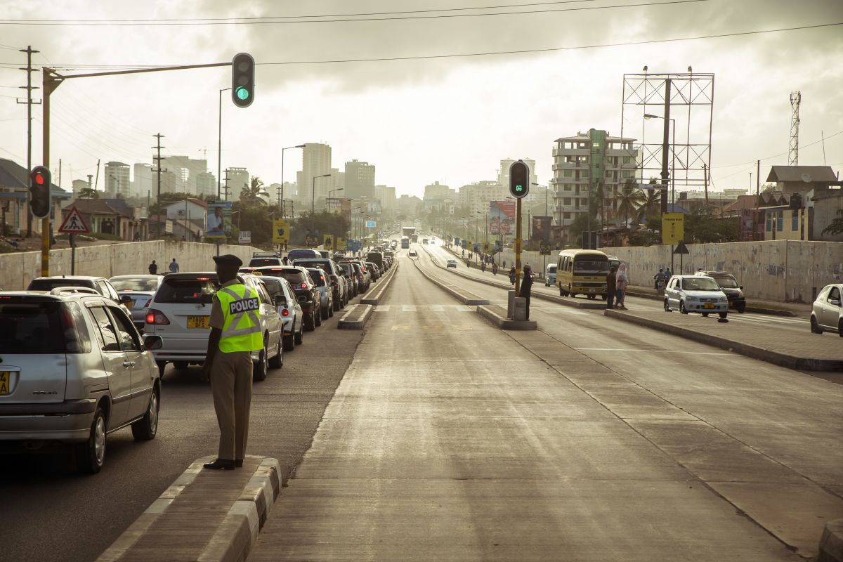
[(797, 357), (790, 356), (779, 351), (768, 350), (756, 345), (742, 344), (737, 341), (727, 340), (717, 335), (703, 334), (693, 329), (681, 328), (671, 324), (664, 324), (658, 320), (650, 318), (641, 318), (631, 314), (625, 314), (618, 310), (605, 310), (604, 316), (609, 318), (620, 318), (631, 324), (638, 324), (645, 328), (658, 329), (665, 334), (678, 335), (680, 338), (686, 340), (694, 340), (701, 344), (711, 345), (712, 347), (719, 347), (722, 350), (734, 351), (742, 356), (758, 359), (778, 365), (779, 367), (787, 367), (798, 371), (843, 371), (843, 361), (836, 359), (815, 359), (812, 357)]

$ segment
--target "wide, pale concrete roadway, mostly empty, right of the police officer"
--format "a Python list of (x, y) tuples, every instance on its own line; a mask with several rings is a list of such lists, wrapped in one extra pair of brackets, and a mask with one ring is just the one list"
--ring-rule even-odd
[(402, 267), (250, 559), (798, 560), (843, 517), (843, 388), (533, 307)]

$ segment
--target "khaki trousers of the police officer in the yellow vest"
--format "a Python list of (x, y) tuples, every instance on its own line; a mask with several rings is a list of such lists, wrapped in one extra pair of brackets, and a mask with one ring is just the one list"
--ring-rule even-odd
[(219, 424), (217, 457), (243, 460), (252, 403), (252, 359), (248, 351), (217, 351), (211, 366), (211, 391)]

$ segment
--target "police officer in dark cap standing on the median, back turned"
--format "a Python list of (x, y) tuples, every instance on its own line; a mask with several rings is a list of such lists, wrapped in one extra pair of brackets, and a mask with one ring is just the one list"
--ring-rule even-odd
[(213, 406), (219, 424), (217, 460), (205, 464), (214, 470), (243, 466), (249, 436), (252, 400), (251, 352), (263, 349), (260, 334), (260, 299), (237, 279), (243, 262), (231, 254), (217, 255), (220, 288), (213, 297), (211, 335), (202, 373), (211, 381)]

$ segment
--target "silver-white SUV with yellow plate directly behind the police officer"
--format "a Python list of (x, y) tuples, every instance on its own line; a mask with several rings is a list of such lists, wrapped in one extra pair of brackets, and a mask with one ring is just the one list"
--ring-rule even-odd
[[(255, 361), (254, 378), (262, 381), (269, 367), (282, 367), (282, 318), (273, 306), (266, 287), (259, 276), (239, 274), (238, 279), (258, 292), (260, 320), (264, 332), (264, 349), (252, 354)], [(217, 274), (170, 273), (158, 286), (148, 303), (143, 333), (158, 335), (162, 345), (154, 351), (158, 368), (164, 374), (167, 363), (184, 369), (188, 365), (205, 362), (208, 347), (208, 318), (214, 293), (219, 289)]]

